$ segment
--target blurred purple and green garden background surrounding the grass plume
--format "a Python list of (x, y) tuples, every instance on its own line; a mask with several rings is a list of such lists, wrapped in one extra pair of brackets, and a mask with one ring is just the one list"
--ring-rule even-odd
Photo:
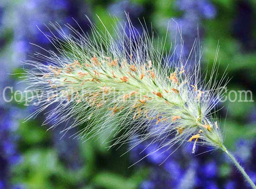
[[(220, 151), (203, 153), (210, 149), (199, 147), (193, 155), (192, 146), (187, 145), (175, 151), (161, 166), (169, 155), (166, 152), (148, 156), (127, 169), (148, 153), (140, 154), (146, 144), (120, 157), (127, 146), (107, 150), (100, 139), (82, 143), (69, 138), (75, 129), (62, 137), (59, 133), (62, 126), (49, 131), (47, 128), (51, 125), (41, 126), (44, 113), (23, 122), (33, 112), (33, 106), (4, 101), (4, 98), (13, 97), (17, 101), (22, 98), (14, 95), (10, 88), (7, 93), (3, 91), (6, 86), (12, 86), (13, 91), (25, 90), (25, 83), (19, 83), (21, 74), (7, 73), (22, 73), (21, 61), (38, 51), (29, 42), (53, 49), (37, 26), (45, 33), (48, 31), (44, 24), (50, 21), (78, 27), (74, 18), (90, 33), (85, 15), (101, 28), (96, 15), (111, 24), (110, 15), (122, 20), (124, 11), (129, 13), (135, 27), (140, 28), (137, 18), (144, 18), (160, 36), (166, 34), (168, 20), (173, 18), (182, 28), (186, 55), (197, 37), (198, 27), (203, 49), (202, 68), (214, 63), (219, 43), (220, 76), (229, 65), (227, 72), (232, 78), (226, 93), (231, 100), (220, 103), (225, 107), (219, 112), (226, 133), (225, 145), (256, 182), (255, 0), (1, 0), (0, 189), (249, 188)], [(175, 23), (170, 22), (168, 41), (174, 40), (172, 29), (175, 27)], [(252, 99), (250, 93), (247, 102), (246, 95), (239, 99), (238, 90), (252, 91)]]

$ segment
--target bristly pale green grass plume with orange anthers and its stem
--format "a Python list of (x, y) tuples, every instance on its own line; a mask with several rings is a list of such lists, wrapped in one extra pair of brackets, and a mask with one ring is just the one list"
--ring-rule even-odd
[[(105, 30), (101, 31), (90, 22), (90, 35), (68, 24), (73, 34), (66, 34), (59, 24), (51, 23), (58, 35), (50, 30), (52, 35), (45, 36), (55, 52), (43, 49), (46, 54), (36, 53), (34, 60), (25, 63), (29, 66), (25, 69), (27, 91), (40, 91), (30, 97), (38, 100), (34, 100), (36, 111), (28, 118), (55, 105), (45, 123), (51, 121), (54, 128), (68, 122), (63, 133), (79, 126), (73, 135), (79, 139), (107, 133), (110, 147), (133, 142), (133, 148), (151, 139), (151, 144), (160, 144), (156, 151), (188, 142), (193, 143), (192, 153), (197, 145), (220, 148), (256, 188), (223, 145), (212, 112), (226, 85), (226, 74), (217, 81), (216, 58), (206, 81), (207, 76), (203, 78), (200, 72), (197, 40), (189, 57), (184, 57), (176, 42), (167, 50), (166, 38), (154, 39), (146, 26), (140, 34), (127, 18), (127, 22), (116, 21), (113, 35), (103, 23)], [(190, 61), (193, 68), (188, 66)]]

